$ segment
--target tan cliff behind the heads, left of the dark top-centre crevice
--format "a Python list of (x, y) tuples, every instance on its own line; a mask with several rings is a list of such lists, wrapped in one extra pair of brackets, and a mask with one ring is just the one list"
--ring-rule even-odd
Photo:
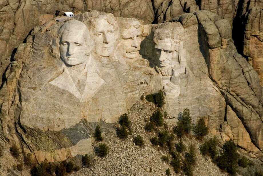
[[(53, 19), (56, 10), (61, 11), (61, 14), (64, 11), (78, 14), (88, 9), (113, 13), (116, 17), (142, 17), (146, 23), (154, 20), (150, 0), (3, 0), (0, 2), (0, 74), (3, 75), (10, 60), (13, 61), (17, 47), (25, 41), (30, 31)], [(10, 55), (11, 59), (7, 59)]]

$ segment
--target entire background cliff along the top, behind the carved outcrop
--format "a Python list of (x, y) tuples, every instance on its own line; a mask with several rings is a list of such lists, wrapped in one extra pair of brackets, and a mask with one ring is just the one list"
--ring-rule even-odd
[[(243, 53), (250, 59), (255, 58), (253, 54), (258, 52), (253, 49), (249, 51), (247, 47), (254, 45), (260, 47), (257, 44), (259, 41), (253, 39), (253, 36), (251, 45), (247, 43), (247, 40), (250, 41), (250, 38), (244, 39), (247, 38), (245, 33), (250, 30), (247, 30), (247, 27), (245, 27), (249, 26), (250, 23), (247, 21), (248, 16), (256, 17), (253, 15), (255, 8), (258, 8), (258, 10), (263, 8), (260, 0), (246, 0), (242, 2), (236, 0), (202, 0), (198, 2), (193, 0), (71, 0), (63, 2), (55, 0), (3, 0), (0, 2), (0, 75), (3, 75), (5, 68), (13, 61), (17, 47), (20, 43), (25, 42), (25, 38), (30, 31), (35, 26), (45, 24), (53, 19), (56, 10), (60, 10), (61, 13), (73, 11), (75, 14), (78, 14), (93, 9), (112, 13), (115, 17), (137, 18), (143, 20), (145, 24), (163, 23), (164, 21), (172, 21), (184, 13), (208, 10), (228, 20), (231, 27), (234, 26), (233, 39), (235, 46), (240, 54)], [(256, 13), (258, 14), (259, 12)], [(251, 21), (251, 17), (249, 18)], [(259, 19), (259, 17), (256, 18)], [(253, 23), (259, 24), (256, 21)], [(256, 58), (255, 60), (258, 60), (258, 57)], [(255, 61), (252, 65), (260, 74), (260, 61)], [(2, 82), (2, 79), (5, 78), (0, 76), (0, 82)]]

